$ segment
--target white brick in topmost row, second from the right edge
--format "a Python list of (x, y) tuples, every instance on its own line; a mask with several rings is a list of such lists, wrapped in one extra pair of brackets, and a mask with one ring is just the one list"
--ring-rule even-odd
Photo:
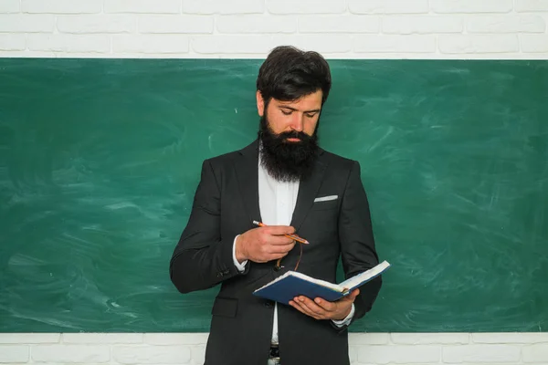
[(513, 0), (430, 0), (434, 13), (508, 13)]

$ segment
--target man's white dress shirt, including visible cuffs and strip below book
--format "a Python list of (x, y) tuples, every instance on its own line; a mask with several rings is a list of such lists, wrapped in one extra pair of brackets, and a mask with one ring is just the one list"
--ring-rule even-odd
[[(269, 175), (258, 159), (258, 206), (262, 223), (267, 225), (290, 225), (297, 194), (299, 193), (299, 182), (279, 182)], [(237, 238), (237, 237), (236, 237)], [(234, 265), (240, 272), (245, 270), (248, 261), (238, 263), (236, 259), (236, 238), (232, 247)], [(313, 244), (312, 244), (313, 245)], [(297, 309), (295, 309), (297, 310)], [(342, 327), (353, 318), (354, 306), (350, 314), (342, 320), (333, 320), (337, 326)], [(274, 324), (272, 328), (272, 343), (278, 343), (278, 303), (274, 305)]]

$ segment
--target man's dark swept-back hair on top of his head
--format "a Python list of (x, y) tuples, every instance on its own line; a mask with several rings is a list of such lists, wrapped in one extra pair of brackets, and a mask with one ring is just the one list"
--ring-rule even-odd
[(271, 98), (292, 101), (318, 89), (322, 91), (323, 105), (331, 86), (331, 71), (325, 58), (296, 47), (274, 48), (258, 70), (257, 89), (266, 105)]

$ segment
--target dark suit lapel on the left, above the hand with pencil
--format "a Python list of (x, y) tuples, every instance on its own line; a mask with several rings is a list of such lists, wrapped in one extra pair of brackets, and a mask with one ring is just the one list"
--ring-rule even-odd
[(240, 156), (235, 161), (237, 181), (240, 195), (244, 200), (249, 215), (249, 224), (261, 222), (258, 206), (258, 141), (240, 150)]

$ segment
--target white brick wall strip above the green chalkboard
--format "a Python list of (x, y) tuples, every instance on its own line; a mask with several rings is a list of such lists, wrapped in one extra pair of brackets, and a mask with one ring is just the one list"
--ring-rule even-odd
[(0, 57), (548, 58), (548, 0), (0, 0)]

